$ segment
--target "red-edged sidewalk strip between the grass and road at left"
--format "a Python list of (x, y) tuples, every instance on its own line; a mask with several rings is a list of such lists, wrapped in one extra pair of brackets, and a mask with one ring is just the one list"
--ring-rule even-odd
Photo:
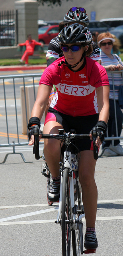
[(37, 69), (45, 69), (47, 64), (43, 65), (16, 65), (16, 66), (0, 66), (0, 71), (13, 71), (13, 70), (37, 70)]

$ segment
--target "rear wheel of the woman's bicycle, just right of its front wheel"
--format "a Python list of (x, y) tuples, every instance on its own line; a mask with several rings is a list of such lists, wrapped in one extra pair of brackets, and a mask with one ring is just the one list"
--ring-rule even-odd
[[(80, 214), (84, 214), (84, 211), (82, 209), (82, 190), (81, 185), (78, 182), (78, 196), (76, 200), (77, 204), (77, 212), (78, 216)], [(77, 229), (72, 230), (72, 251), (73, 256), (80, 256), (80, 254), (83, 254), (83, 223), (82, 220), (77, 224)]]

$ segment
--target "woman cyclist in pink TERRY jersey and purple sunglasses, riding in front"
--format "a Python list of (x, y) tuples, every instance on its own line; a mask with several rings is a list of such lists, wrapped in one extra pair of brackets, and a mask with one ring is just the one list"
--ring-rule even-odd
[[(95, 221), (98, 193), (94, 179), (96, 160), (93, 156), (90, 131), (97, 127), (96, 144), (100, 147), (109, 117), (109, 82), (105, 68), (86, 57), (92, 48), (91, 42), (92, 34), (88, 28), (80, 24), (72, 24), (61, 31), (59, 44), (64, 57), (53, 62), (43, 72), (28, 128), (31, 135), (29, 145), (32, 145), (33, 129), (35, 124), (40, 128), (40, 120), (54, 84), (58, 98), (54, 97), (51, 102), (43, 133), (58, 133), (58, 129), (64, 129), (65, 132), (75, 129), (77, 134), (90, 133), (90, 139), (76, 141), (76, 146), (80, 150), (78, 169), (87, 226), (84, 246), (86, 249), (96, 250), (98, 242)], [(51, 202), (58, 201), (60, 194), (59, 148), (59, 140), (45, 139), (44, 154), (52, 174), (48, 194)]]

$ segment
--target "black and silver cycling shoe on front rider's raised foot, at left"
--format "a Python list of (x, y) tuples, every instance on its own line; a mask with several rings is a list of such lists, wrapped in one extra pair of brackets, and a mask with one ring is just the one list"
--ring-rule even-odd
[(50, 202), (59, 201), (60, 196), (60, 184), (61, 180), (53, 180), (50, 181), (49, 191), (47, 193), (47, 197)]

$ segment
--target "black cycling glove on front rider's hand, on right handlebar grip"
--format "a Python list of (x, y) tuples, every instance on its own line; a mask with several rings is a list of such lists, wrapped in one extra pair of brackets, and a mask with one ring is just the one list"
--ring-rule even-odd
[[(101, 142), (103, 142), (105, 140), (104, 134), (107, 131), (107, 124), (104, 121), (98, 121), (94, 128), (96, 128), (97, 136), (99, 136)], [(90, 131), (91, 134), (93, 134), (94, 128)]]

